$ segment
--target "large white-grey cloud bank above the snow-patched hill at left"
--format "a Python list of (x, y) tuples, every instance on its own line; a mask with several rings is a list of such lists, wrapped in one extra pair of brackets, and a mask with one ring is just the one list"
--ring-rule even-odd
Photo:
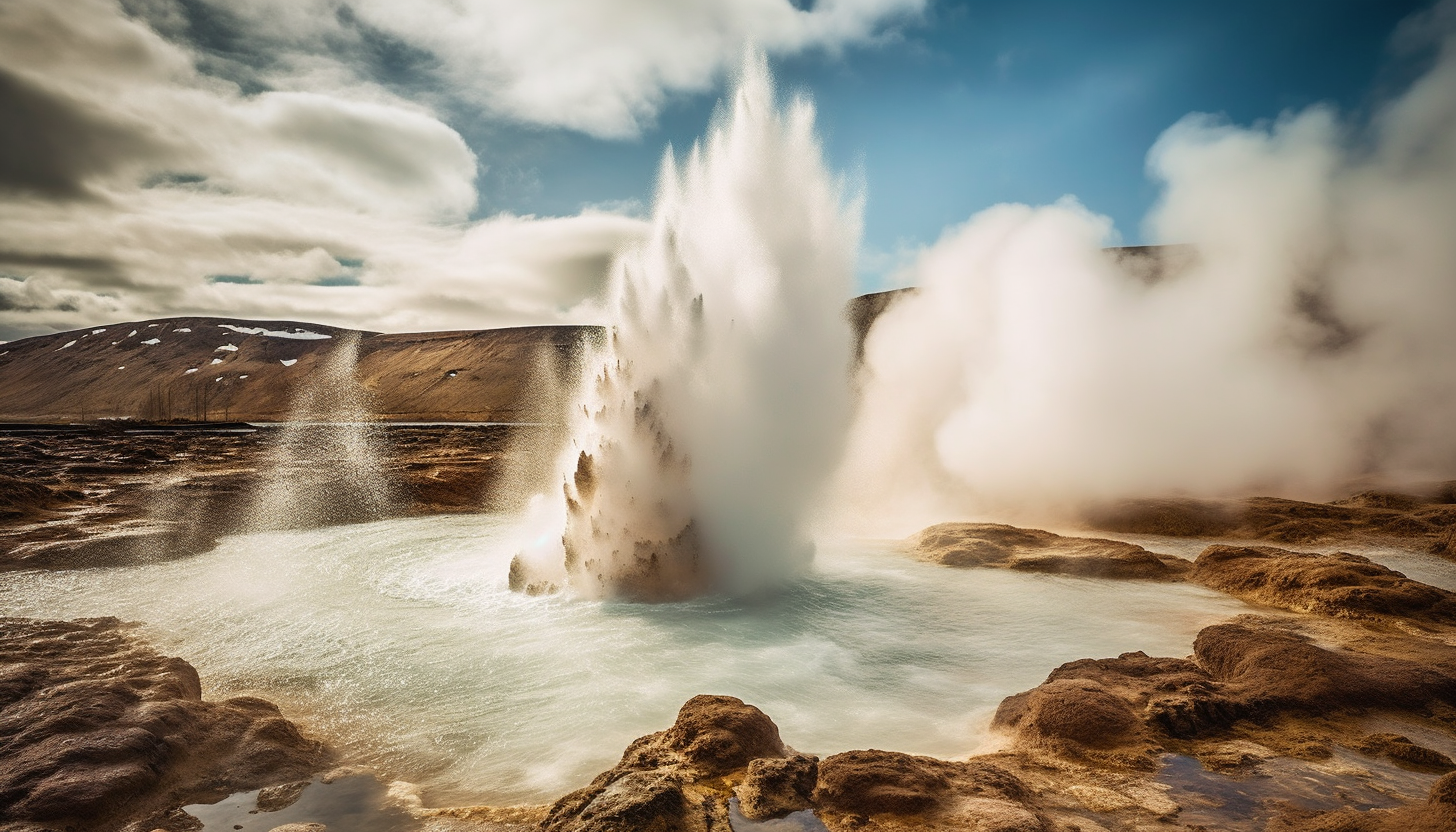
[(115, 3), (6, 3), (0, 338), (181, 313), (370, 329), (590, 316), (645, 224), (472, 223), (476, 170), (419, 105), (245, 93)]

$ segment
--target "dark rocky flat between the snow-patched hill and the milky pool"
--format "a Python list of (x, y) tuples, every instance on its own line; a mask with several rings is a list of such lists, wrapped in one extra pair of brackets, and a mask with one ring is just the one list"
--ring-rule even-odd
[[(149, 562), (258, 527), (479, 511), (545, 428), (0, 428), (0, 571)], [(360, 449), (367, 459), (358, 459)], [(373, 484), (373, 491), (361, 485)], [(264, 497), (285, 494), (284, 501)]]

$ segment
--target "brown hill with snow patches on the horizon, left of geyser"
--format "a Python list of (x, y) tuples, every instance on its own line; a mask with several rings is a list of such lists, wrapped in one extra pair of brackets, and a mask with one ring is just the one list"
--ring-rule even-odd
[[(226, 318), (109, 323), (0, 344), (0, 420), (517, 421), (597, 332), (380, 334)], [(363, 396), (313, 396), (317, 412), (306, 412), (310, 398), (296, 392), (331, 380), (338, 388), (351, 370), (358, 386), (348, 388)]]

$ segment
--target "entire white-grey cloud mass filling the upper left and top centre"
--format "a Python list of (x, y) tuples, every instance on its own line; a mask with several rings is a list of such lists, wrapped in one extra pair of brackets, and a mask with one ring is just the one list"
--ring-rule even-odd
[(745, 42), (834, 51), (923, 6), (10, 0), (0, 338), (175, 313), (596, 321), (641, 211), (472, 221), (483, 163), (447, 119), (633, 136)]

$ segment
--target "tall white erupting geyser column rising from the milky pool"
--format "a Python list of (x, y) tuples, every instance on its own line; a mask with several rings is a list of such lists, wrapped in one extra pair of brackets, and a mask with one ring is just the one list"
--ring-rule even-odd
[(562, 492), (539, 501), (547, 532), (513, 561), (513, 589), (741, 594), (811, 561), (804, 513), (847, 418), (859, 216), (812, 106), (779, 112), (748, 55), (706, 141), (681, 166), (668, 150), (652, 230), (613, 267)]

